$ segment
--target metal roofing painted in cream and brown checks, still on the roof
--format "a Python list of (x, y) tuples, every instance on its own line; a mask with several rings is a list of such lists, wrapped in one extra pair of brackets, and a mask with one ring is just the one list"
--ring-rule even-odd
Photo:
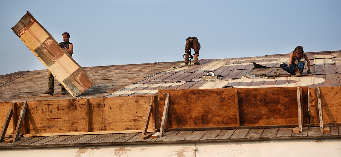
[[(302, 77), (289, 75), (279, 68), (288, 63), (288, 54), (264, 57), (227, 59), (201, 59), (200, 65), (181, 63), (135, 82), (108, 97), (157, 94), (159, 89), (205, 89), (205, 88), (257, 88), (257, 87), (328, 87), (340, 86), (341, 51), (310, 52), (312, 74), (303, 72)], [(254, 64), (268, 68), (256, 68)], [(201, 80), (207, 72), (219, 76), (214, 80)]]

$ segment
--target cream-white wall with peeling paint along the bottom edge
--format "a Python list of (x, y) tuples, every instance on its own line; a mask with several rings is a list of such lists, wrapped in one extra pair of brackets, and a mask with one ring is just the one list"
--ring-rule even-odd
[[(194, 147), (197, 150), (194, 150)], [(341, 157), (341, 139), (112, 145), (0, 150), (0, 157)]]

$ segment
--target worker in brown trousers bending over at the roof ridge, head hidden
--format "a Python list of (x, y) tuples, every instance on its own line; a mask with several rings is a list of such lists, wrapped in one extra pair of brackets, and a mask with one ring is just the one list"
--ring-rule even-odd
[(188, 65), (188, 62), (190, 61), (188, 59), (188, 56), (190, 56), (193, 59), (193, 56), (191, 54), (191, 49), (194, 49), (194, 65), (199, 65), (198, 57), (199, 57), (199, 50), (200, 50), (200, 43), (196, 37), (188, 37), (186, 39), (186, 47), (185, 47), (185, 65)]

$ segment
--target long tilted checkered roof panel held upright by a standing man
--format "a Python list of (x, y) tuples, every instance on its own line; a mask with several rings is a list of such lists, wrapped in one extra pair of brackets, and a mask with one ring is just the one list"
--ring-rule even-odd
[(92, 78), (29, 12), (12, 30), (73, 97), (94, 84)]

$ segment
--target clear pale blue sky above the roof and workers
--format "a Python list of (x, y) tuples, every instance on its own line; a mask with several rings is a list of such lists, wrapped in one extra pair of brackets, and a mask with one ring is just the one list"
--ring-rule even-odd
[(70, 33), (82, 67), (182, 61), (187, 37), (199, 59), (341, 50), (341, 1), (0, 2), (0, 75), (46, 69), (11, 28), (29, 11), (58, 41)]

